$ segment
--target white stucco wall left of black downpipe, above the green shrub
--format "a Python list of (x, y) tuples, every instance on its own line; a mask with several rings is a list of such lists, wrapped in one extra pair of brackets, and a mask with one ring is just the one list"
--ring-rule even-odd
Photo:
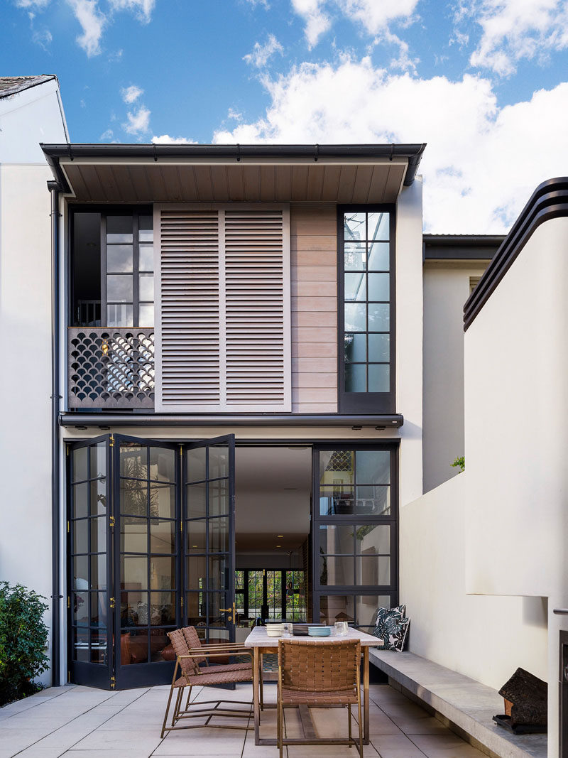
[[(46, 165), (0, 165), (0, 578), (51, 596), (51, 224)], [(51, 621), (51, 612), (45, 617)], [(45, 680), (45, 678), (44, 678)]]

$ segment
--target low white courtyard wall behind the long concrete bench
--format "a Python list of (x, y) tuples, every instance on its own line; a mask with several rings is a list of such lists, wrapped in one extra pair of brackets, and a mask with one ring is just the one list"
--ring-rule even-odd
[(468, 595), (460, 474), (401, 509), (402, 603), (410, 650), (499, 689), (518, 666), (547, 678), (547, 602)]

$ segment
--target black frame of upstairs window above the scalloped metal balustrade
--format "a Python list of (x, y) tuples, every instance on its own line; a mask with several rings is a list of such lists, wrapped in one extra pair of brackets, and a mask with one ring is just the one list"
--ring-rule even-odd
[[(101, 312), (101, 328), (114, 329), (137, 329), (139, 328), (139, 312), (140, 312), (140, 298), (139, 298), (139, 261), (140, 261), (140, 240), (138, 237), (139, 229), (139, 217), (151, 216), (154, 217), (154, 206), (143, 203), (141, 205), (100, 205), (100, 204), (78, 204), (73, 203), (68, 205), (68, 240), (70, 240), (69, 249), (67, 251), (67, 271), (68, 274), (68, 290), (69, 300), (67, 305), (67, 324), (73, 326), (79, 326), (77, 324), (76, 313), (74, 312), (73, 304), (75, 302), (75, 293), (73, 291), (73, 265), (74, 265), (74, 218), (76, 213), (97, 213), (100, 215), (100, 240), (101, 240), (101, 267), (100, 267), (100, 312)], [(132, 327), (109, 327), (108, 326), (108, 311), (107, 311), (107, 241), (106, 241), (106, 220), (108, 216), (132, 216), (133, 217), (133, 326)], [(155, 235), (155, 229), (154, 229)], [(155, 239), (155, 238), (154, 238)], [(155, 244), (155, 243), (154, 243)], [(154, 277), (156, 275), (154, 269)], [(143, 301), (145, 302), (145, 301)], [(155, 300), (154, 300), (155, 306)], [(154, 314), (155, 324), (155, 314)], [(153, 328), (140, 327), (140, 328)], [(85, 327), (88, 328), (88, 327)]]

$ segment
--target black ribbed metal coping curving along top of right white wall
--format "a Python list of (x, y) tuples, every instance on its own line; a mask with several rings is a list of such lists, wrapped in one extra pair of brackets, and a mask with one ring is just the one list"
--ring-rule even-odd
[(463, 305), (463, 331), (473, 324), (535, 230), (545, 221), (565, 216), (568, 216), (568, 177), (557, 177), (539, 184)]

